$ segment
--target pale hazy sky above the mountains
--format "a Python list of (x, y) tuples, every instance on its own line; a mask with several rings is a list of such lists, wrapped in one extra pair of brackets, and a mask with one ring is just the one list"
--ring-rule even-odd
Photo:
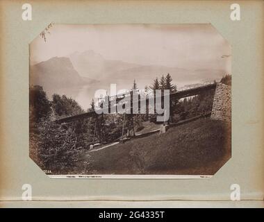
[(31, 43), (31, 64), (74, 51), (93, 50), (106, 59), (231, 73), (231, 46), (211, 24), (54, 24), (47, 42)]

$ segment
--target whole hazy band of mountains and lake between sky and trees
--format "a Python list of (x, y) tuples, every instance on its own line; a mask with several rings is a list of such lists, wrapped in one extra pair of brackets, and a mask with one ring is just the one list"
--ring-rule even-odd
[(117, 89), (131, 89), (135, 79), (144, 89), (154, 78), (170, 73), (178, 87), (213, 81), (224, 76), (221, 69), (188, 70), (161, 65), (138, 65), (121, 60), (107, 60), (94, 51), (74, 52), (68, 57), (54, 57), (30, 67), (30, 84), (42, 85), (48, 96), (54, 93), (92, 99), (96, 89), (108, 89), (116, 83)]

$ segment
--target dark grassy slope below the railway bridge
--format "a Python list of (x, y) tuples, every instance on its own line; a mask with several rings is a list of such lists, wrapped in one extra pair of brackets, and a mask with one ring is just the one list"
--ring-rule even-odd
[(92, 172), (98, 174), (210, 175), (231, 157), (231, 128), (199, 119), (90, 155)]

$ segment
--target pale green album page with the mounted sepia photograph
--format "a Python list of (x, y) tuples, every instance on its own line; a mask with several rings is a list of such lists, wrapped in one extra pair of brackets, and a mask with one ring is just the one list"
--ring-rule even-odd
[(263, 200), (263, 1), (0, 10), (3, 206)]

